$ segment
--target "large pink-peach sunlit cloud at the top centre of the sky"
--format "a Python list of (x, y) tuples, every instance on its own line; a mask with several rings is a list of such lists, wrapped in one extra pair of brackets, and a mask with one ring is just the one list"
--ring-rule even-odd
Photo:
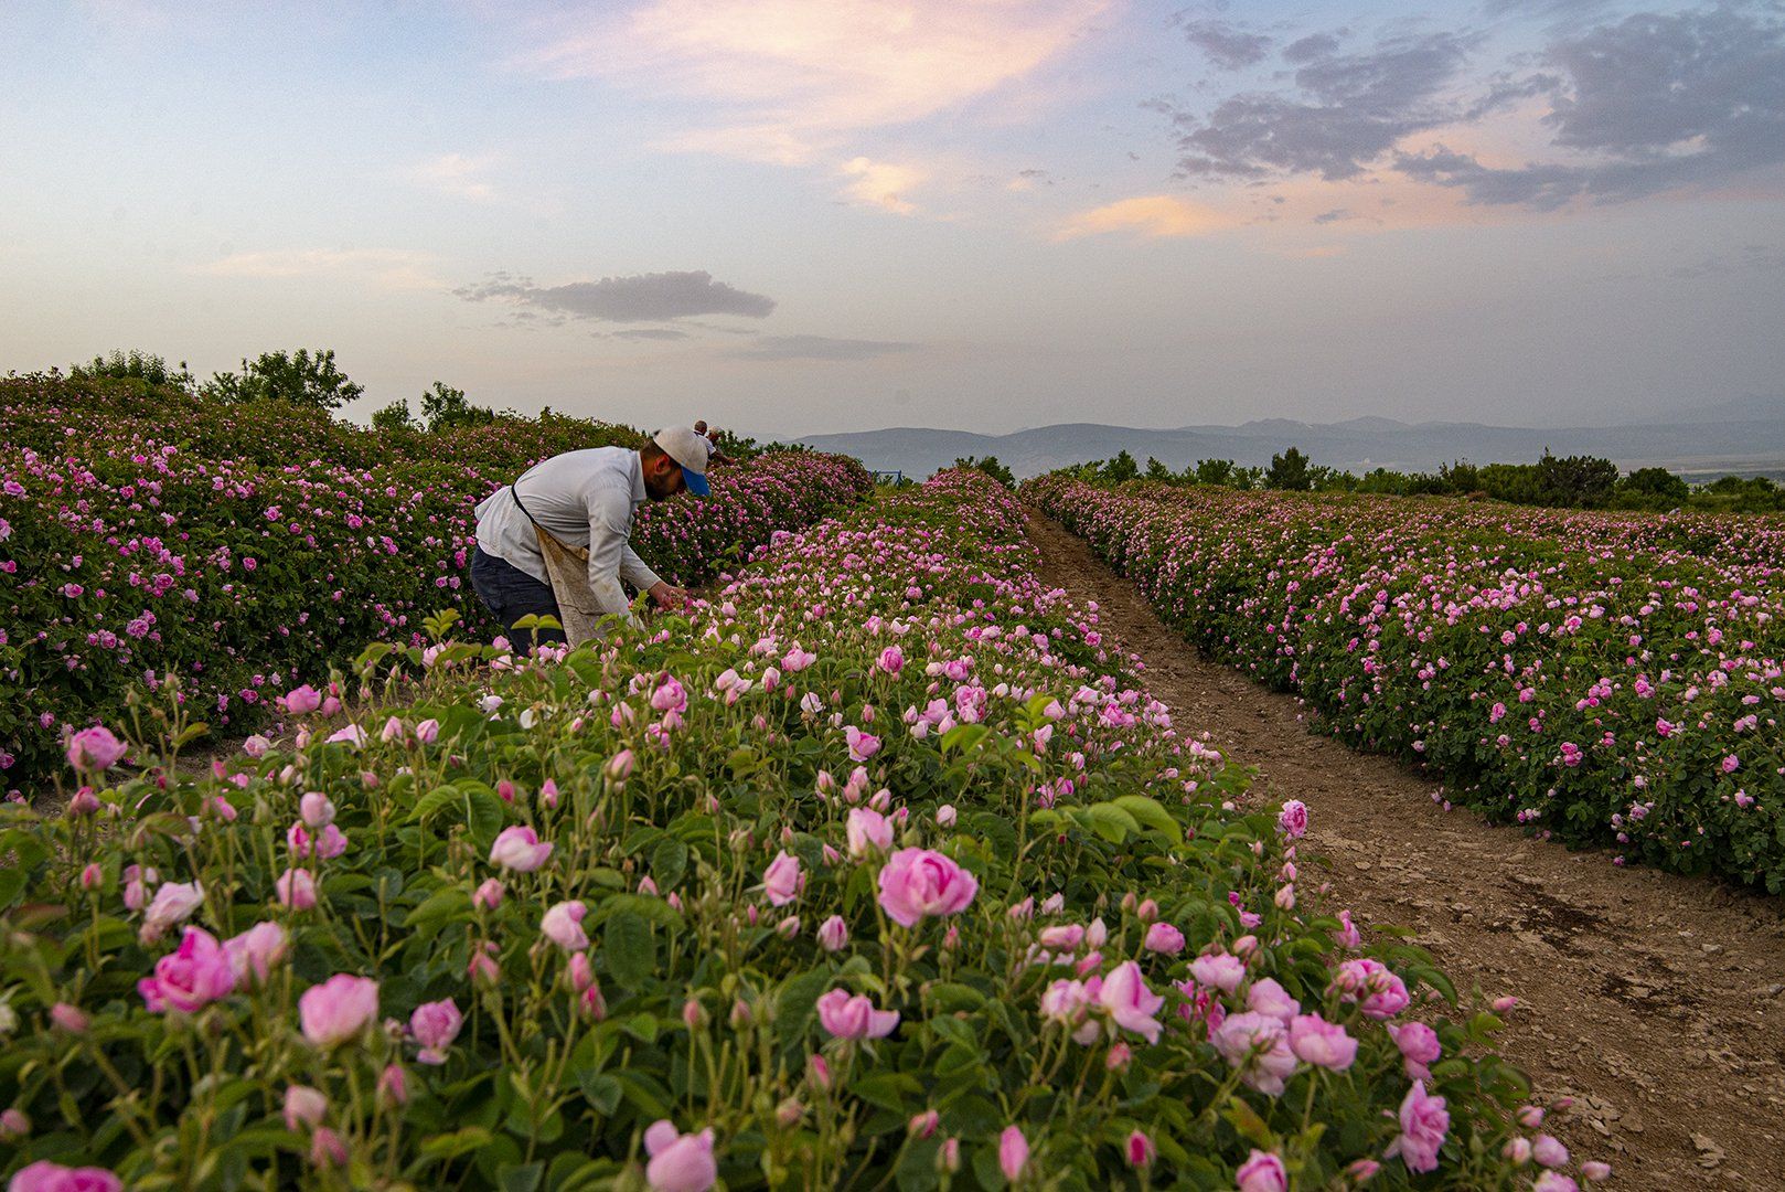
[(705, 116), (669, 148), (805, 161), (851, 132), (987, 97), (1060, 57), (1110, 0), (644, 0), (566, 18), (528, 63)]

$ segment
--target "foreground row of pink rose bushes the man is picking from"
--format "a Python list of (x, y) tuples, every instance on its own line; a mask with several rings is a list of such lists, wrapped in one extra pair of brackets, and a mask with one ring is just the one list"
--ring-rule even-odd
[(170, 713), (86, 810), (0, 808), (5, 1171), (1528, 1188), (1499, 1019), (1283, 897), (1301, 845), (1034, 561), (944, 474), (685, 618), (380, 643), (211, 772)]

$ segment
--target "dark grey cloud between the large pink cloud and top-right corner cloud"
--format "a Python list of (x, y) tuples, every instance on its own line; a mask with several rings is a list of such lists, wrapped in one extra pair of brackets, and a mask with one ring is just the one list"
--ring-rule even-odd
[[(1305, 45), (1303, 39), (1299, 45)], [(1401, 34), (1364, 54), (1321, 43), (1294, 71), (1294, 93), (1246, 93), (1200, 120), (1176, 111), (1178, 168), (1187, 175), (1264, 179), (1317, 172), (1364, 173), (1412, 132), (1451, 123), (1444, 100), (1476, 39), (1453, 32)]]

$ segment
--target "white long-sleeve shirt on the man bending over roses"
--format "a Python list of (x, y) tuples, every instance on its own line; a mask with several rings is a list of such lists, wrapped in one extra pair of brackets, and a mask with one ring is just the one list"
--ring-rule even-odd
[[(650, 499), (639, 452), (628, 447), (591, 447), (552, 456), (521, 474), (514, 490), (527, 513), (569, 547), (589, 549), (589, 588), (603, 613), (627, 617), (625, 579), (639, 592), (660, 583), (632, 547), (632, 513)], [(546, 559), (527, 513), (507, 486), (477, 506), (477, 549), (512, 563), (550, 584)]]

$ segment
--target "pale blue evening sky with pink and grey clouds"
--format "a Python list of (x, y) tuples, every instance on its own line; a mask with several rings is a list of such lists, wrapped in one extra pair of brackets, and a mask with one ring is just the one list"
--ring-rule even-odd
[(0, 5), (0, 372), (757, 438), (1785, 391), (1785, 4)]

